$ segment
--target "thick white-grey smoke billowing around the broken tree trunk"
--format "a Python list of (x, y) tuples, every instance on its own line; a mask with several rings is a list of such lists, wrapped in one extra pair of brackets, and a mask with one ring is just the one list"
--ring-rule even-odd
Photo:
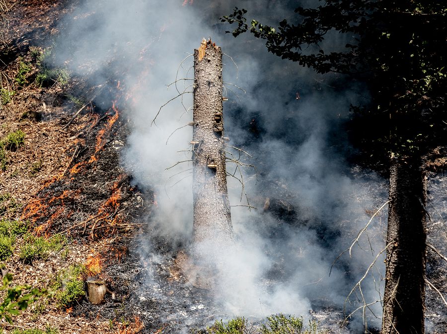
[[(342, 307), (351, 287), (383, 247), (380, 220), (375, 219), (375, 234), (370, 239), (365, 234), (362, 248), (356, 248), (351, 259), (343, 258), (343, 266), (335, 266), (329, 276), (335, 258), (369, 220), (365, 209), (378, 208), (385, 196), (382, 181), (373, 175), (364, 181), (360, 173), (355, 177), (336, 147), (347, 145), (341, 124), (350, 103), (360, 99), (356, 90), (362, 87), (352, 84), (343, 91), (333, 89), (331, 82), (342, 78), (318, 76), (269, 55), (262, 41), (248, 34), (234, 39), (224, 34), (232, 27), (219, 23), (219, 16), (238, 5), (250, 9), (249, 17), (275, 24), (292, 13), (291, 5), (298, 5), (297, 1), (196, 0), (186, 6), (182, 2), (83, 1), (61, 27), (61, 38), (56, 41), (58, 59), (73, 73), (88, 75), (97, 84), (113, 73), (124, 77), (132, 101), (124, 115), (132, 124), (132, 133), (123, 163), (139, 186), (155, 190), (157, 233), (189, 240), (193, 215), (188, 169), (192, 165), (174, 165), (191, 159), (190, 152), (181, 151), (188, 149), (192, 136), (190, 127), (182, 128), (191, 121), (192, 111), (185, 108), (192, 105), (192, 97), (183, 95), (185, 108), (180, 98), (166, 104), (178, 94), (174, 86), (167, 89), (166, 85), (176, 77), (192, 77), (192, 57), (187, 56), (203, 37), (211, 36), (237, 64), (236, 70), (231, 59), (224, 57), (224, 81), (246, 90), (243, 94), (228, 86), (240, 97), (239, 101), (228, 91), (229, 101), (224, 104), (230, 143), (244, 145), (255, 156), (261, 181), (280, 184), (285, 194), (294, 194), (298, 215), (308, 220), (307, 224), (288, 225), (268, 213), (260, 214), (262, 206), (251, 212), (233, 207), (237, 246), (218, 266), (216, 299), (224, 301), (229, 315), (305, 315), (314, 305), (318, 307), (318, 300)], [(190, 91), (190, 83), (179, 81), (179, 91)], [(156, 125), (151, 124), (162, 105)], [(251, 118), (262, 130), (255, 139), (248, 131)], [(256, 185), (253, 173), (247, 173), (249, 197), (268, 197), (268, 191)], [(240, 184), (228, 182), (231, 204), (240, 204)], [(268, 235), (275, 230), (281, 239)], [(377, 272), (383, 272), (380, 262), (374, 268), (375, 281), (371, 277), (364, 281), (367, 302), (378, 298), (375, 284), (380, 283)], [(269, 275), (281, 278), (269, 280)], [(380, 304), (372, 308), (380, 316)]]

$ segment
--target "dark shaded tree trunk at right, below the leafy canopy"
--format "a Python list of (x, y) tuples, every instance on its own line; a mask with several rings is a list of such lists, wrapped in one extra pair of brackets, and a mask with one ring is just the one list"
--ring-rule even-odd
[(383, 334), (424, 334), (426, 184), (420, 159), (390, 167)]

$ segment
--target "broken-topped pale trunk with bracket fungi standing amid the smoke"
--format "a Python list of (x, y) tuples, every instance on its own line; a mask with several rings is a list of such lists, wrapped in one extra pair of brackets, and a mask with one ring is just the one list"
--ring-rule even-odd
[[(232, 244), (224, 153), (222, 51), (203, 40), (194, 50), (194, 244), (214, 253)], [(206, 249), (203, 249), (206, 248)]]

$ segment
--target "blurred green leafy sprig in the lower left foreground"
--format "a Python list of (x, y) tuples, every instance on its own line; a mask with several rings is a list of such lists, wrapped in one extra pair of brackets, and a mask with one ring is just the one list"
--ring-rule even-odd
[(18, 315), (40, 296), (48, 293), (47, 290), (32, 289), (28, 284), (9, 287), (11, 283), (12, 274), (7, 273), (3, 276), (3, 285), (0, 288), (2, 291), (6, 290), (6, 295), (0, 304), (0, 319), (4, 318), (10, 324), (12, 316)]

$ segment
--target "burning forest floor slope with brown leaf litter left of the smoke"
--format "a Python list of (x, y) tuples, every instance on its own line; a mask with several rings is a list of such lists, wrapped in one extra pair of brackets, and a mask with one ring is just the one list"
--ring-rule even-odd
[[(13, 316), (12, 324), (1, 320), (2, 333), (178, 333), (172, 326), (179, 321), (193, 329), (219, 320), (224, 315), (207, 303), (206, 291), (183, 284), (176, 249), (161, 250), (161, 262), (142, 260), (136, 250), (137, 244), (163, 249), (163, 241), (147, 240), (142, 218), (156, 207), (154, 194), (133, 185), (120, 164), (131, 126), (121, 113), (120, 81), (92, 84), (46, 65), (60, 22), (76, 4), (0, 0), (1, 269), (13, 275), (13, 285), (56, 291)], [(99, 94), (110, 96), (110, 104), (96, 104)], [(446, 162), (441, 153), (437, 159)], [(443, 247), (439, 239), (432, 244)], [(144, 270), (148, 263), (151, 271)], [(431, 279), (445, 292), (444, 274)], [(78, 280), (103, 281), (110, 290), (104, 303), (89, 303), (83, 285), (72, 296), (60, 293)], [(439, 302), (436, 292), (428, 294), (430, 303)], [(442, 324), (442, 313), (430, 311)]]

